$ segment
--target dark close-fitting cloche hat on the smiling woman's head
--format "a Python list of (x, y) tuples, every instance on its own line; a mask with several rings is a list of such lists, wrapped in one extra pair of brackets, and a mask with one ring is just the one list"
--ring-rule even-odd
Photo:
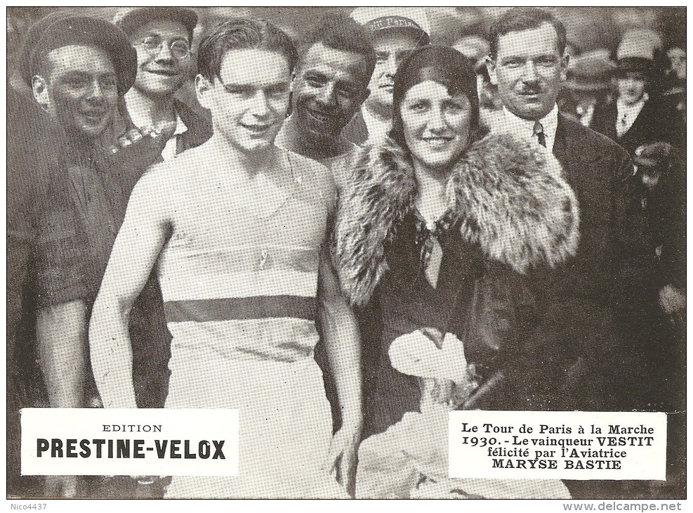
[(400, 107), (407, 91), (426, 80), (442, 84), (451, 96), (464, 94), (468, 98), (472, 110), (469, 141), (477, 141), (482, 134), (479, 127), (479, 96), (474, 65), (454, 48), (433, 44), (416, 48), (395, 74), (395, 86), (392, 89), (392, 129), (388, 134), (392, 141), (402, 148), (407, 148)]

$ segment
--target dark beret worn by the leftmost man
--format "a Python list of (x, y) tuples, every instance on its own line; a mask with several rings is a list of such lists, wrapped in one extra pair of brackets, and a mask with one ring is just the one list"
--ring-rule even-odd
[(100, 18), (65, 11), (51, 13), (29, 29), (18, 63), (22, 78), (31, 86), (41, 54), (72, 44), (93, 45), (105, 51), (115, 69), (120, 96), (135, 83), (137, 52), (124, 32)]

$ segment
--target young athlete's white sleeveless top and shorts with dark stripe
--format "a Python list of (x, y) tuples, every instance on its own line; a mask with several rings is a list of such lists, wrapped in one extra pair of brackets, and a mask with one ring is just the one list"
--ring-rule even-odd
[(201, 152), (154, 171), (168, 174), (175, 211), (158, 264), (173, 335), (166, 408), (238, 408), (240, 473), (176, 476), (166, 496), (345, 498), (321, 469), (332, 422), (312, 357), (329, 171), (280, 152), (249, 186)]

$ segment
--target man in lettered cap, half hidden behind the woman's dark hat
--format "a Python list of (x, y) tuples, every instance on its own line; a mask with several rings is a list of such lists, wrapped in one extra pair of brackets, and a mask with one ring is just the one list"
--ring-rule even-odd
[(421, 7), (357, 7), (351, 17), (371, 32), (376, 67), (370, 96), (342, 136), (357, 145), (377, 143), (390, 129), (392, 79), (397, 67), (414, 48), (430, 42), (428, 18)]

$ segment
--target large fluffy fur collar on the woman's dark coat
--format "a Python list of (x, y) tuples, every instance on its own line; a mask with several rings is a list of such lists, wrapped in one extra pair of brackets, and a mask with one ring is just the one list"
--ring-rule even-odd
[[(336, 264), (350, 303), (366, 303), (387, 269), (385, 248), (414, 207), (414, 168), (386, 139), (345, 163), (350, 178), (336, 223)], [(345, 170), (346, 171), (346, 170)], [(463, 237), (484, 257), (517, 273), (574, 255), (579, 239), (575, 194), (560, 164), (536, 143), (492, 134), (473, 143), (447, 184)]]

